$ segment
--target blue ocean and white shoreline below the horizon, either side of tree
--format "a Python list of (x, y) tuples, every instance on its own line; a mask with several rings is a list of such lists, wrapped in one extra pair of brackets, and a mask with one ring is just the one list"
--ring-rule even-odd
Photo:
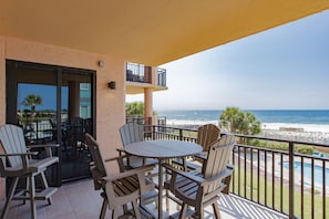
[[(263, 128), (279, 129), (280, 127), (304, 128), (306, 132), (329, 133), (329, 109), (319, 111), (249, 111), (261, 122)], [(158, 116), (165, 116), (168, 125), (206, 123), (218, 124), (223, 111), (158, 111)]]

